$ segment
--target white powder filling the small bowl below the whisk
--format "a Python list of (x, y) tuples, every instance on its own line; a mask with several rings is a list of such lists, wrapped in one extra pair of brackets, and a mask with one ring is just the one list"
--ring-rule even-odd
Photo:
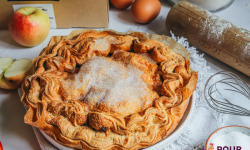
[(241, 147), (242, 150), (249, 149), (250, 147), (250, 136), (241, 132), (227, 132), (223, 135), (215, 137), (211, 143), (214, 143), (214, 148), (217, 147)]

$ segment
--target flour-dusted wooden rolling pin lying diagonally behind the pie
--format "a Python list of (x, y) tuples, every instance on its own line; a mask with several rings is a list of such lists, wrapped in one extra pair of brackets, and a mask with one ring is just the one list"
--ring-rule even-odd
[(166, 19), (168, 32), (183, 36), (205, 53), (250, 76), (250, 32), (200, 7), (181, 1)]

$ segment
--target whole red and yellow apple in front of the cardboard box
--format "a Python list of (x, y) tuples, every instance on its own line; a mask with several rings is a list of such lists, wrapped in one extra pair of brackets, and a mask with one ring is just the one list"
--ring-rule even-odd
[(14, 40), (23, 46), (36, 46), (49, 34), (48, 15), (35, 7), (18, 9), (9, 22), (9, 31)]

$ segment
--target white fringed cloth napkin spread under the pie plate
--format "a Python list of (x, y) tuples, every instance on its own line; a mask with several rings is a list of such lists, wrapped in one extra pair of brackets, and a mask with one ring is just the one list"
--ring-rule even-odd
[[(209, 135), (216, 129), (226, 125), (243, 125), (249, 126), (249, 121), (245, 117), (225, 115), (211, 109), (204, 99), (203, 89), (208, 77), (212, 74), (209, 72), (210, 67), (207, 66), (203, 54), (198, 54), (194, 47), (190, 47), (185, 38), (172, 37), (186, 47), (190, 52), (191, 68), (199, 71), (197, 88), (195, 94), (195, 110), (191, 118), (191, 123), (185, 128), (184, 132), (173, 143), (166, 143), (162, 150), (200, 150), (205, 148), (206, 140)], [(21, 96), (22, 93), (19, 95)], [(236, 122), (235, 122), (236, 120)], [(41, 132), (33, 127), (37, 140), (42, 150), (56, 150)]]

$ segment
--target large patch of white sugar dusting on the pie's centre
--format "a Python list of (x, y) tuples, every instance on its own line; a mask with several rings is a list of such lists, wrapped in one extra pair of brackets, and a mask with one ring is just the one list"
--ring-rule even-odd
[(82, 65), (70, 86), (83, 91), (80, 100), (112, 106), (117, 102), (138, 101), (145, 96), (147, 85), (141, 75), (133, 66), (124, 66), (111, 58), (93, 57)]

